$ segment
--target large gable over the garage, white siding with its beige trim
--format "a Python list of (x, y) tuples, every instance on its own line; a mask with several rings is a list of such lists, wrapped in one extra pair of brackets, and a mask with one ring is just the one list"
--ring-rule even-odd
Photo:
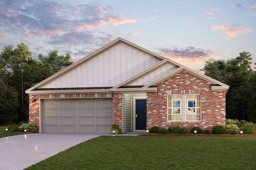
[[(120, 44), (120, 45), (119, 45)], [(77, 69), (80, 69), (80, 72), (84, 72), (84, 70), (81, 70), (82, 68), (84, 68), (84, 67), (90, 67), (90, 68), (92, 68), (92, 67), (94, 67), (94, 65), (92, 65), (93, 64), (93, 59), (96, 59), (96, 57), (98, 56), (98, 59), (97, 59), (97, 61), (95, 61), (94, 63), (100, 63), (100, 60), (102, 60), (102, 59), (104, 59), (104, 57), (102, 57), (101, 55), (102, 54), (104, 54), (104, 52), (106, 52), (106, 51), (108, 51), (109, 49), (114, 49), (114, 50), (112, 50), (112, 53), (114, 53), (114, 55), (116, 55), (117, 57), (120, 57), (121, 56), (121, 54), (116, 54), (116, 53), (121, 53), (120, 51), (117, 51), (115, 48), (116, 48), (116, 46), (122, 46), (122, 45), (126, 45), (126, 47), (120, 47), (120, 51), (122, 51), (122, 48), (124, 49), (124, 48), (129, 48), (130, 49), (130, 51), (128, 51), (129, 53), (134, 53), (134, 54), (131, 54), (131, 56), (133, 57), (133, 56), (135, 56), (135, 57), (137, 57), (137, 58), (134, 58), (134, 59), (130, 59), (131, 57), (130, 56), (128, 56), (127, 58), (129, 59), (129, 60), (134, 60), (134, 63), (135, 64), (137, 64), (136, 65), (136, 69), (137, 70), (135, 70), (134, 68), (130, 68), (130, 69), (132, 69), (132, 74), (129, 74), (129, 75), (123, 75), (123, 78), (121, 79), (120, 78), (120, 80), (115, 80), (116, 81), (116, 84), (114, 83), (113, 84), (113, 82), (110, 82), (110, 80), (108, 80), (110, 83), (108, 83), (108, 84), (100, 84), (100, 83), (98, 83), (97, 85), (95, 85), (95, 84), (90, 84), (90, 83), (88, 83), (88, 84), (86, 84), (87, 86), (85, 86), (84, 84), (82, 84), (81, 82), (79, 82), (79, 83), (77, 83), (77, 84), (75, 84), (75, 85), (73, 85), (72, 83), (74, 83), (74, 81), (81, 81), (81, 79), (82, 78), (84, 78), (84, 75), (82, 75), (83, 73), (80, 73), (81, 75), (80, 75), (80, 77), (79, 78), (76, 78), (76, 77), (72, 77), (73, 78), (73, 80), (69, 80), (69, 81), (67, 81), (67, 80), (64, 80), (65, 78), (66, 79), (68, 79), (68, 78), (70, 78), (70, 75), (69, 74), (75, 74), (75, 73), (72, 73), (72, 71), (73, 70), (75, 70), (76, 68)], [(119, 46), (118, 46), (118, 48), (119, 48)], [(124, 50), (123, 50), (124, 51)], [(126, 53), (128, 53), (127, 51), (126, 51)], [(111, 53), (111, 51), (109, 52), (109, 53)], [(138, 53), (138, 54), (137, 54)], [(111, 62), (114, 62), (114, 63), (116, 63), (117, 61), (114, 61), (115, 60), (115, 58), (114, 59), (112, 59), (111, 57), (112, 57), (112, 54), (108, 54), (108, 53), (106, 53), (106, 55), (109, 57), (108, 59), (106, 59), (106, 61), (101, 61), (102, 63), (104, 63), (104, 62), (108, 62), (108, 63), (110, 63), (109, 64), (109, 66), (108, 67), (112, 67), (112, 63)], [(120, 56), (118, 56), (118, 55), (120, 55)], [(128, 55), (128, 54), (126, 54), (126, 55)], [(147, 60), (147, 62), (145, 62), (145, 61), (137, 61), (137, 63), (136, 63), (136, 60), (139, 60), (140, 58), (142, 58), (141, 56), (143, 56), (143, 59), (144, 60)], [(130, 58), (129, 58), (130, 57)], [(140, 58), (139, 58), (140, 57)], [(112, 59), (112, 61), (110, 61), (110, 59)], [(73, 64), (71, 64), (70, 66), (68, 66), (68, 67), (66, 67), (66, 68), (64, 68), (63, 70), (60, 70), (59, 72), (57, 72), (56, 74), (54, 74), (54, 75), (52, 75), (52, 76), (50, 76), (49, 78), (46, 78), (45, 80), (43, 80), (42, 82), (40, 82), (40, 83), (38, 83), (38, 84), (36, 84), (35, 86), (33, 86), (33, 87), (31, 87), (30, 89), (28, 89), (28, 90), (26, 90), (26, 93), (28, 93), (28, 94), (30, 94), (30, 93), (40, 93), (40, 90), (38, 90), (38, 89), (43, 89), (42, 90), (42, 93), (46, 93), (46, 88), (48, 88), (48, 89), (57, 89), (57, 88), (95, 88), (95, 87), (98, 87), (99, 89), (102, 89), (102, 87), (111, 87), (111, 85), (112, 85), (112, 87), (113, 86), (116, 86), (117, 84), (120, 84), (122, 81), (125, 81), (126, 79), (128, 79), (128, 78), (130, 78), (130, 77), (132, 77), (132, 76), (135, 76), (136, 74), (138, 74), (138, 73), (140, 73), (141, 71), (143, 71), (144, 69), (147, 69), (147, 68), (149, 68), (149, 67), (151, 67), (151, 66), (153, 66), (154, 64), (156, 64), (156, 63), (159, 63), (160, 61), (162, 61), (162, 60), (164, 60), (165, 58), (164, 57), (162, 57), (162, 56), (160, 56), (160, 55), (157, 55), (157, 54), (155, 54), (155, 53), (153, 53), (153, 52), (151, 52), (151, 51), (148, 51), (147, 49), (144, 49), (143, 47), (140, 47), (140, 46), (138, 46), (138, 45), (136, 45), (136, 44), (134, 44), (134, 43), (131, 43), (130, 41), (127, 41), (127, 40), (125, 40), (125, 39), (123, 39), (123, 38), (121, 38), (121, 37), (118, 37), (117, 39), (115, 39), (114, 41), (112, 41), (112, 42), (110, 42), (110, 43), (108, 43), (107, 45), (105, 45), (104, 47), (102, 47), (102, 48), (100, 48), (100, 49), (98, 49), (98, 50), (96, 50), (95, 52), (93, 52), (93, 53), (91, 53), (90, 55), (88, 55), (88, 56), (86, 56), (86, 57), (84, 57), (83, 59), (81, 59), (80, 61), (78, 61), (78, 62), (76, 62), (76, 63), (73, 63)], [(120, 60), (120, 59), (119, 59)], [(127, 59), (126, 59), (127, 60)], [(140, 59), (141, 60), (141, 59)], [(87, 62), (87, 63), (86, 63)], [(118, 61), (119, 63), (121, 63), (121, 60), (120, 61)], [(143, 66), (141, 67), (141, 66), (139, 66), (139, 64), (140, 63), (142, 63), (143, 64)], [(83, 66), (83, 64), (84, 63), (86, 63), (87, 65), (86, 66)], [(122, 63), (125, 63), (125, 62), (122, 62)], [(147, 63), (147, 64), (144, 64), (144, 63)], [(130, 64), (130, 63), (129, 63)], [(81, 66), (82, 65), (82, 66)], [(115, 64), (115, 65), (118, 65), (118, 63), (117, 64)], [(96, 65), (97, 67), (98, 67), (98, 69), (101, 69), (103, 66), (102, 65)], [(129, 65), (130, 66), (130, 65)], [(128, 64), (125, 66), (125, 67), (127, 67), (126, 69), (128, 69)], [(82, 67), (82, 68), (81, 68)], [(122, 67), (122, 66), (119, 66), (119, 67)], [(88, 68), (87, 68), (88, 69)], [(109, 68), (109, 69), (111, 69), (111, 68)], [(114, 68), (114, 69), (116, 69), (116, 68)], [(122, 68), (118, 68), (118, 69), (122, 69)], [(142, 70), (140, 70), (140, 69), (142, 69)], [(135, 70), (135, 71), (134, 71)], [(92, 70), (87, 70), (88, 72), (90, 72), (90, 71), (92, 71)], [(114, 70), (114, 71), (118, 71), (118, 70)], [(115, 74), (114, 73), (114, 71), (112, 71), (112, 72), (109, 72), (108, 74), (109, 75), (107, 75), (107, 76), (110, 76), (110, 74)], [(71, 73), (70, 73), (71, 72)], [(95, 71), (96, 72), (96, 71)], [(102, 71), (102, 72), (104, 72), (104, 70)], [(128, 71), (126, 71), (126, 70), (124, 70), (123, 72), (128, 72)], [(93, 77), (95, 77), (95, 75), (91, 75), (91, 74), (89, 74), (89, 73), (87, 73), (88, 74), (88, 76), (90, 76), (90, 78), (93, 78)], [(98, 74), (100, 74), (100, 73), (98, 73)], [(105, 73), (104, 73), (105, 74)], [(107, 74), (107, 73), (106, 73)], [(106, 77), (106, 76), (104, 76), (104, 75), (102, 75), (104, 78)], [(119, 77), (120, 75), (118, 75), (118, 76), (115, 76), (115, 77)], [(72, 79), (72, 78), (70, 78), (70, 79)], [(98, 79), (100, 79), (100, 78), (98, 78)], [(97, 81), (97, 80), (95, 80), (95, 81)], [(100, 81), (100, 80), (98, 80), (98, 81)], [(112, 80), (111, 80), (112, 81)], [(92, 81), (87, 81), (87, 82), (92, 82)], [(63, 84), (67, 84), (66, 86), (63, 86)], [(111, 84), (112, 83), (112, 84)], [(54, 85), (55, 84), (55, 85)], [(61, 85), (60, 85), (61, 84)], [(36, 90), (37, 89), (37, 90)], [(86, 92), (86, 91), (93, 91), (93, 90), (85, 90), (84, 92)], [(95, 90), (94, 89), (94, 91), (97, 91), (97, 90)], [(58, 92), (60, 92), (60, 90), (58, 90)]]

